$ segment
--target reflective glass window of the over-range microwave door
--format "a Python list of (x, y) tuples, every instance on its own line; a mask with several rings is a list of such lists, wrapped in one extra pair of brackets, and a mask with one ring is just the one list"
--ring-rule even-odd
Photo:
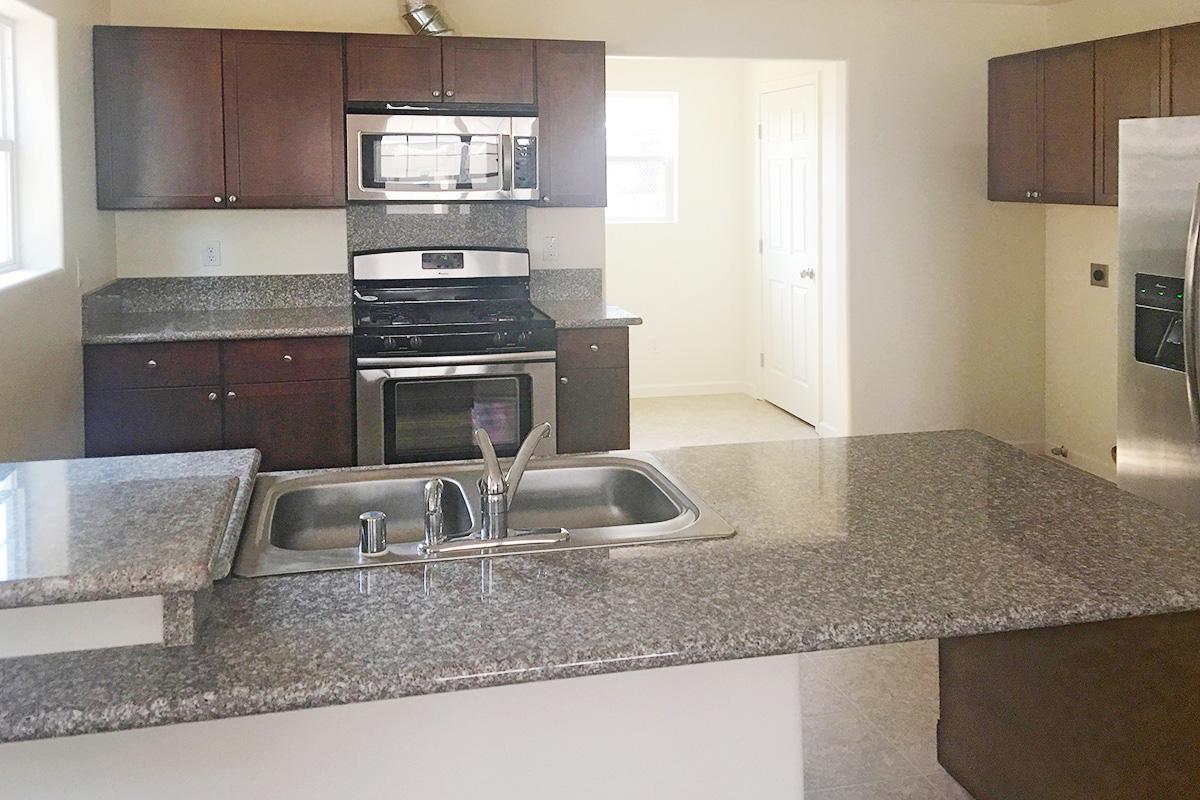
[(365, 134), (362, 188), (497, 191), (500, 158), (499, 134)]

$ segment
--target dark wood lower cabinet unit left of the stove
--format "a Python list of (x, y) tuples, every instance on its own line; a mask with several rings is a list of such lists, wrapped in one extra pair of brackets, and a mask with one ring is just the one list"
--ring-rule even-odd
[(89, 345), (84, 398), (88, 456), (256, 447), (263, 470), (354, 459), (347, 337)]

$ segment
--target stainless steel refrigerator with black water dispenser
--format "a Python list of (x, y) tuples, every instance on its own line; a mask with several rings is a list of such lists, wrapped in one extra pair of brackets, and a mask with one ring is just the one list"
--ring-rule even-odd
[(1121, 122), (1122, 488), (1200, 517), (1200, 116)]

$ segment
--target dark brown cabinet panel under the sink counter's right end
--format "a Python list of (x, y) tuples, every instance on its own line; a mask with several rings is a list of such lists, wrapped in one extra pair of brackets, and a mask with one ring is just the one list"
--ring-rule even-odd
[(940, 682), (977, 800), (1200, 796), (1200, 613), (943, 639)]

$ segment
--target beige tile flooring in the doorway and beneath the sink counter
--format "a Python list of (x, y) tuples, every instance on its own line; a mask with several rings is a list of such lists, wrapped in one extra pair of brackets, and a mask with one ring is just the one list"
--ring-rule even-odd
[[(812, 439), (746, 395), (632, 401), (631, 446)], [(805, 800), (971, 800), (937, 763), (937, 643), (803, 656)]]

